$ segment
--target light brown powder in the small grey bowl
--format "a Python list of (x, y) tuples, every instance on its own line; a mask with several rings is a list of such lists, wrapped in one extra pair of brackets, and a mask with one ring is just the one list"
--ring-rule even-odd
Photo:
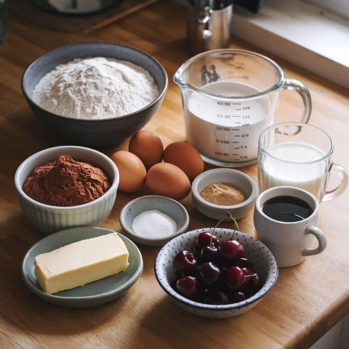
[(203, 188), (200, 196), (220, 206), (238, 205), (246, 200), (246, 194), (239, 188), (226, 183), (213, 183)]

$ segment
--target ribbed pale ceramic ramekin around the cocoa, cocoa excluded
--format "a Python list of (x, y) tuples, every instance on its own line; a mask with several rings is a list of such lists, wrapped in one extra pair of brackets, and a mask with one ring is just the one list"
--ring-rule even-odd
[[(69, 155), (76, 161), (89, 162), (106, 172), (111, 187), (98, 199), (73, 207), (45, 205), (31, 199), (22, 190), (24, 181), (38, 166)], [(74, 227), (98, 227), (109, 216), (119, 186), (119, 171), (113, 161), (97, 150), (77, 146), (54, 147), (39, 151), (25, 159), (15, 173), (18, 200), (27, 221), (45, 235)]]

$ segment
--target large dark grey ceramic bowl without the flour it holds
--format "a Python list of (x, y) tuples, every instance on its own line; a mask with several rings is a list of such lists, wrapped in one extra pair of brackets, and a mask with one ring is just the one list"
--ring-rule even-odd
[[(40, 79), (59, 64), (75, 58), (108, 57), (132, 62), (148, 70), (159, 89), (159, 96), (143, 109), (121, 117), (103, 120), (81, 120), (60, 116), (44, 110), (31, 99), (32, 92)], [(25, 70), (22, 91), (32, 112), (58, 136), (69, 144), (88, 147), (108, 147), (124, 141), (139, 131), (154, 116), (161, 105), (168, 86), (168, 77), (163, 66), (150, 55), (133, 47), (89, 42), (72, 44), (52, 50)]]

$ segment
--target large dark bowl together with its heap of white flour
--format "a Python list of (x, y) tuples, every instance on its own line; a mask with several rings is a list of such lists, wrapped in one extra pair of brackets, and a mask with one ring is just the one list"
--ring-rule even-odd
[(168, 86), (162, 65), (133, 47), (105, 42), (52, 50), (25, 70), (32, 112), (69, 144), (108, 147), (141, 129)]

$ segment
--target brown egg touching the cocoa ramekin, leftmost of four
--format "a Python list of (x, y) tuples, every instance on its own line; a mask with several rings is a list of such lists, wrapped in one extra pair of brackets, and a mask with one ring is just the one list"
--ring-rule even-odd
[(147, 170), (141, 159), (124, 150), (117, 151), (110, 158), (119, 170), (119, 189), (128, 193), (141, 190), (147, 177)]

